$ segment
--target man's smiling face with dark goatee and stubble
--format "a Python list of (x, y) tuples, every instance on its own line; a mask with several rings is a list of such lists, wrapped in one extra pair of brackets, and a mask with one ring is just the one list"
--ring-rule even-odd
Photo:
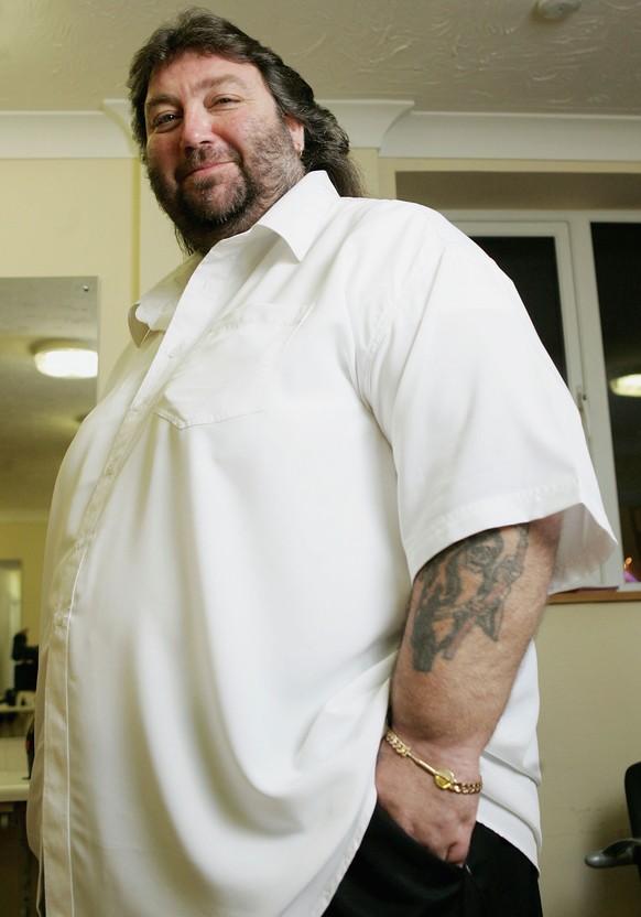
[(303, 126), (252, 64), (185, 52), (152, 74), (145, 119), (151, 186), (199, 251), (249, 229), (304, 174)]

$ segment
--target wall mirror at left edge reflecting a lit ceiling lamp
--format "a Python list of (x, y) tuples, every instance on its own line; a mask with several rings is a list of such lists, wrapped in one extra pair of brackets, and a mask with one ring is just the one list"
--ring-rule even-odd
[(15, 634), (31, 624), (29, 643), (37, 643), (53, 488), (80, 421), (96, 403), (96, 379), (43, 376), (34, 349), (54, 339), (96, 349), (97, 327), (97, 278), (0, 278), (0, 557), (9, 559), (0, 569), (11, 590), (18, 571), (6, 564), (21, 568), (21, 602), (0, 605), (0, 693), (13, 687), (6, 682), (9, 671), (13, 678)]

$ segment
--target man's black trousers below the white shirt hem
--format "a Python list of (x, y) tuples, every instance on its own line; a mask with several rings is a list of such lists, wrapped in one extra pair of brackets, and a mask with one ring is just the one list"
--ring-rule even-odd
[(542, 917), (532, 863), (477, 824), (466, 866), (444, 863), (377, 806), (325, 917)]

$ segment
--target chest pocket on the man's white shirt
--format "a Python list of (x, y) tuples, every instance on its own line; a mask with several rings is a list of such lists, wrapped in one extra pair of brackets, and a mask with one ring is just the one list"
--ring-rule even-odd
[(312, 305), (246, 303), (185, 357), (156, 402), (181, 429), (265, 409), (290, 341)]

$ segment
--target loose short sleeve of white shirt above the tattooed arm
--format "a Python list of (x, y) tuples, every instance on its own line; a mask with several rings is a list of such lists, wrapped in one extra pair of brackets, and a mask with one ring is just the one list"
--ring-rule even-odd
[(370, 378), (411, 575), (469, 535), (563, 511), (551, 590), (567, 589), (615, 544), (576, 406), (485, 252), (450, 233), (416, 260)]

